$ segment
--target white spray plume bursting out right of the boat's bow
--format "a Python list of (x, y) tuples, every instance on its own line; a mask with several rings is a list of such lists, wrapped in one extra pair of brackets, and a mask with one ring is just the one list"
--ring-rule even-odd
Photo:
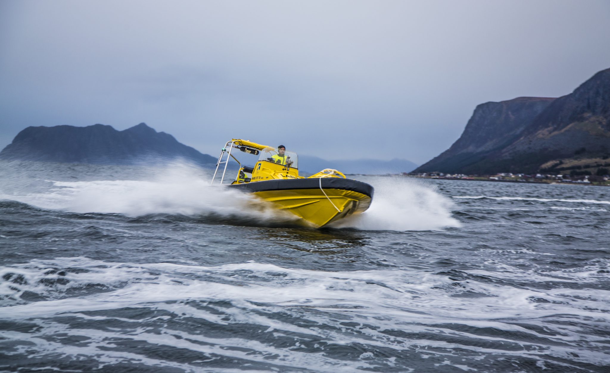
[(332, 224), (362, 230), (437, 230), (459, 227), (451, 216), (454, 203), (420, 180), (378, 177), (367, 180), (375, 198), (365, 213)]

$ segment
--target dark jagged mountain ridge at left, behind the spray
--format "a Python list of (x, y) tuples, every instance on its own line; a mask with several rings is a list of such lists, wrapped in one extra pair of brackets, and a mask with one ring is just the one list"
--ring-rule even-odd
[(216, 158), (179, 143), (145, 123), (118, 131), (111, 126), (27, 127), (0, 152), (1, 159), (126, 165), (150, 160), (186, 158), (215, 165)]

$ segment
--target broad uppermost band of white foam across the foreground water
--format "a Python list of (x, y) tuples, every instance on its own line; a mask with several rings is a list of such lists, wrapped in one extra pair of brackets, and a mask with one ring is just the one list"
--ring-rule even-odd
[[(85, 264), (87, 263), (87, 264)], [(423, 311), (414, 318), (453, 317), (456, 312), (464, 319), (484, 319), (493, 313), (494, 318), (514, 316), (515, 308), (525, 316), (542, 316), (540, 306), (532, 304), (528, 298), (540, 296), (538, 290), (513, 288), (496, 283), (470, 282), (468, 290), (487, 294), (490, 297), (478, 299), (476, 306), (468, 299), (447, 298), (454, 292), (464, 291), (462, 288), (451, 290), (444, 288), (452, 280), (445, 275), (428, 272), (409, 272), (398, 269), (376, 271), (326, 272), (307, 269), (288, 269), (261, 263), (237, 263), (215, 267), (185, 266), (168, 263), (148, 265), (122, 265), (120, 263), (104, 263), (87, 258), (60, 258), (56, 261), (32, 261), (21, 268), (2, 268), (2, 273), (24, 273), (38, 271), (43, 273), (49, 268), (79, 267), (88, 272), (68, 274), (66, 286), (79, 287), (88, 283), (105, 283), (110, 290), (107, 293), (90, 294), (84, 302), (80, 298), (49, 300), (26, 305), (15, 305), (0, 309), (0, 315), (6, 318), (38, 317), (41, 315), (72, 312), (74, 310), (104, 310), (117, 307), (136, 307), (138, 304), (167, 302), (184, 299), (233, 299), (255, 300), (268, 304), (308, 305), (308, 307), (348, 309), (369, 305), (364, 314), (384, 314), (387, 311), (403, 309)], [(159, 272), (160, 275), (156, 273)], [(247, 272), (243, 279), (240, 276)], [(485, 271), (470, 271), (478, 275), (492, 275)], [(589, 272), (577, 274), (586, 277)], [(151, 274), (154, 273), (154, 274)], [(191, 279), (192, 274), (206, 274), (210, 280)], [(270, 286), (267, 281), (274, 279), (273, 275), (281, 273), (281, 279)], [(251, 280), (260, 278), (260, 282)], [(496, 274), (497, 276), (498, 274)], [(502, 272), (507, 279), (515, 274)], [(571, 275), (574, 275), (573, 273)], [(50, 276), (56, 276), (52, 274)], [(28, 277), (30, 285), (15, 285), (19, 291), (29, 290), (39, 294), (51, 295), (57, 288), (44, 289), (36, 285), (37, 277)], [(112, 280), (108, 280), (112, 279)], [(228, 283), (213, 282), (214, 279), (231, 280)], [(179, 280), (179, 282), (176, 282)], [(548, 277), (534, 277), (533, 280), (550, 280)], [(125, 284), (125, 285), (123, 285)], [(383, 286), (380, 286), (383, 285)], [(6, 291), (6, 290), (5, 290)], [(59, 291), (62, 291), (61, 289)], [(566, 293), (564, 288), (558, 291)], [(449, 292), (449, 293), (448, 293)], [(610, 299), (608, 291), (591, 291), (598, 299)], [(548, 291), (546, 296), (554, 298), (554, 291)], [(451, 302), (448, 302), (451, 299)], [(517, 301), (517, 299), (519, 299)], [(486, 305), (486, 307), (482, 307)], [(434, 307), (431, 307), (434, 306)], [(536, 306), (536, 307), (534, 307)], [(347, 307), (347, 308), (346, 308)], [(548, 304), (546, 311), (565, 311), (565, 305)], [(468, 310), (461, 312), (459, 310)], [(589, 311), (580, 310), (581, 313)], [(545, 315), (547, 313), (545, 312)], [(600, 316), (600, 315), (598, 315)], [(609, 316), (610, 317), (610, 316)]]

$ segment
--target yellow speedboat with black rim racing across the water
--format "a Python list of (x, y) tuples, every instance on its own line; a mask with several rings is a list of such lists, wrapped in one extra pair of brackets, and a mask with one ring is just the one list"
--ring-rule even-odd
[[(234, 149), (259, 156), (254, 167), (242, 165), (231, 154)], [(254, 193), (277, 208), (290, 211), (305, 226), (323, 227), (362, 213), (373, 199), (373, 186), (347, 179), (336, 169), (323, 169), (305, 178), (299, 176), (296, 153), (235, 138), (227, 141), (218, 157), (212, 185), (215, 181), (225, 182), (230, 160), (237, 162), (239, 170), (234, 177), (227, 177), (229, 187)]]

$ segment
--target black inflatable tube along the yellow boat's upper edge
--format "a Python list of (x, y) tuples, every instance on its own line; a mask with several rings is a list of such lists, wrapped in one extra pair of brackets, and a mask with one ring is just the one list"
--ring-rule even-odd
[(231, 188), (247, 192), (268, 191), (268, 190), (293, 190), (293, 189), (318, 189), (320, 180), (323, 189), (342, 189), (365, 194), (373, 198), (373, 186), (367, 183), (352, 179), (339, 179), (339, 177), (323, 177), (321, 179), (281, 179), (264, 180), (259, 182), (249, 182), (243, 184), (233, 184)]

